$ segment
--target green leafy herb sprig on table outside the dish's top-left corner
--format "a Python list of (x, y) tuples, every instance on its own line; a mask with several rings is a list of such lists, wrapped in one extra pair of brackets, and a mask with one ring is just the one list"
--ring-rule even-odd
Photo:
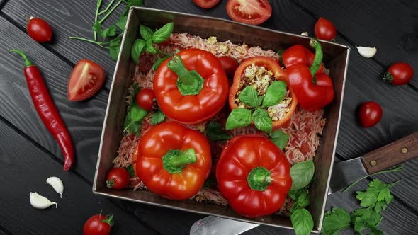
[[(94, 32), (94, 40), (81, 37), (69, 37), (69, 39), (83, 40), (85, 42), (91, 42), (99, 47), (103, 47), (109, 50), (112, 59), (118, 59), (120, 43), (122, 42), (123, 31), (125, 30), (126, 21), (128, 20), (128, 12), (131, 6), (143, 6), (144, 0), (118, 0), (115, 4), (115, 0), (112, 0), (103, 11), (100, 11), (102, 0), (98, 0), (96, 4), (96, 14), (94, 16), (94, 23), (92, 30)], [(111, 16), (111, 13), (122, 3), (125, 3), (125, 11), (118, 18), (114, 25), (102, 30), (102, 23)], [(113, 6), (113, 7), (112, 7)], [(101, 19), (98, 16), (105, 14)], [(98, 40), (98, 36), (101, 40)]]

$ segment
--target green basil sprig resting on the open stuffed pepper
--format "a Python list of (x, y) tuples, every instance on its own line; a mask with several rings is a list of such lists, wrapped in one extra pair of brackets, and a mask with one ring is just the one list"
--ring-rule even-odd
[(286, 82), (273, 81), (264, 96), (259, 96), (252, 86), (239, 93), (239, 101), (249, 108), (235, 108), (227, 118), (226, 129), (247, 127), (252, 121), (258, 130), (271, 132), (273, 122), (264, 108), (278, 104), (286, 96)]

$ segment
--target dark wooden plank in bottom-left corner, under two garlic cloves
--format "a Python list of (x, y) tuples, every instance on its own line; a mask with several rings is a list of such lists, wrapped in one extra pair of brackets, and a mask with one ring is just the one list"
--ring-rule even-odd
[[(0, 193), (0, 224), (12, 234), (81, 234), (86, 219), (101, 210), (114, 214), (114, 234), (157, 234), (106, 197), (92, 194), (91, 185), (62, 171), (59, 162), (51, 161), (4, 122), (0, 122), (0, 139), (0, 180), (7, 189)], [(45, 183), (50, 176), (63, 181), (62, 198)], [(58, 208), (36, 210), (30, 205), (30, 192), (57, 202)]]

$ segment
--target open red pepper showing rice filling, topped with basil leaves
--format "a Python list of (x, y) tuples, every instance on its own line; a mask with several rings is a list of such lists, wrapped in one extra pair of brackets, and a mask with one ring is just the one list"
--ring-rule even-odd
[(229, 103), (232, 112), (229, 122), (227, 120), (227, 130), (254, 123), (259, 130), (271, 132), (290, 120), (298, 99), (288, 86), (286, 72), (278, 62), (260, 56), (239, 64)]

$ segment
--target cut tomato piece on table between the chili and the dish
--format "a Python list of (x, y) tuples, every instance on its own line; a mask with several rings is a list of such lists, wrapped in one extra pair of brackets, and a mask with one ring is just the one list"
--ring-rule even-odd
[(81, 59), (69, 76), (67, 96), (70, 101), (82, 101), (93, 96), (103, 86), (104, 69), (89, 59)]

